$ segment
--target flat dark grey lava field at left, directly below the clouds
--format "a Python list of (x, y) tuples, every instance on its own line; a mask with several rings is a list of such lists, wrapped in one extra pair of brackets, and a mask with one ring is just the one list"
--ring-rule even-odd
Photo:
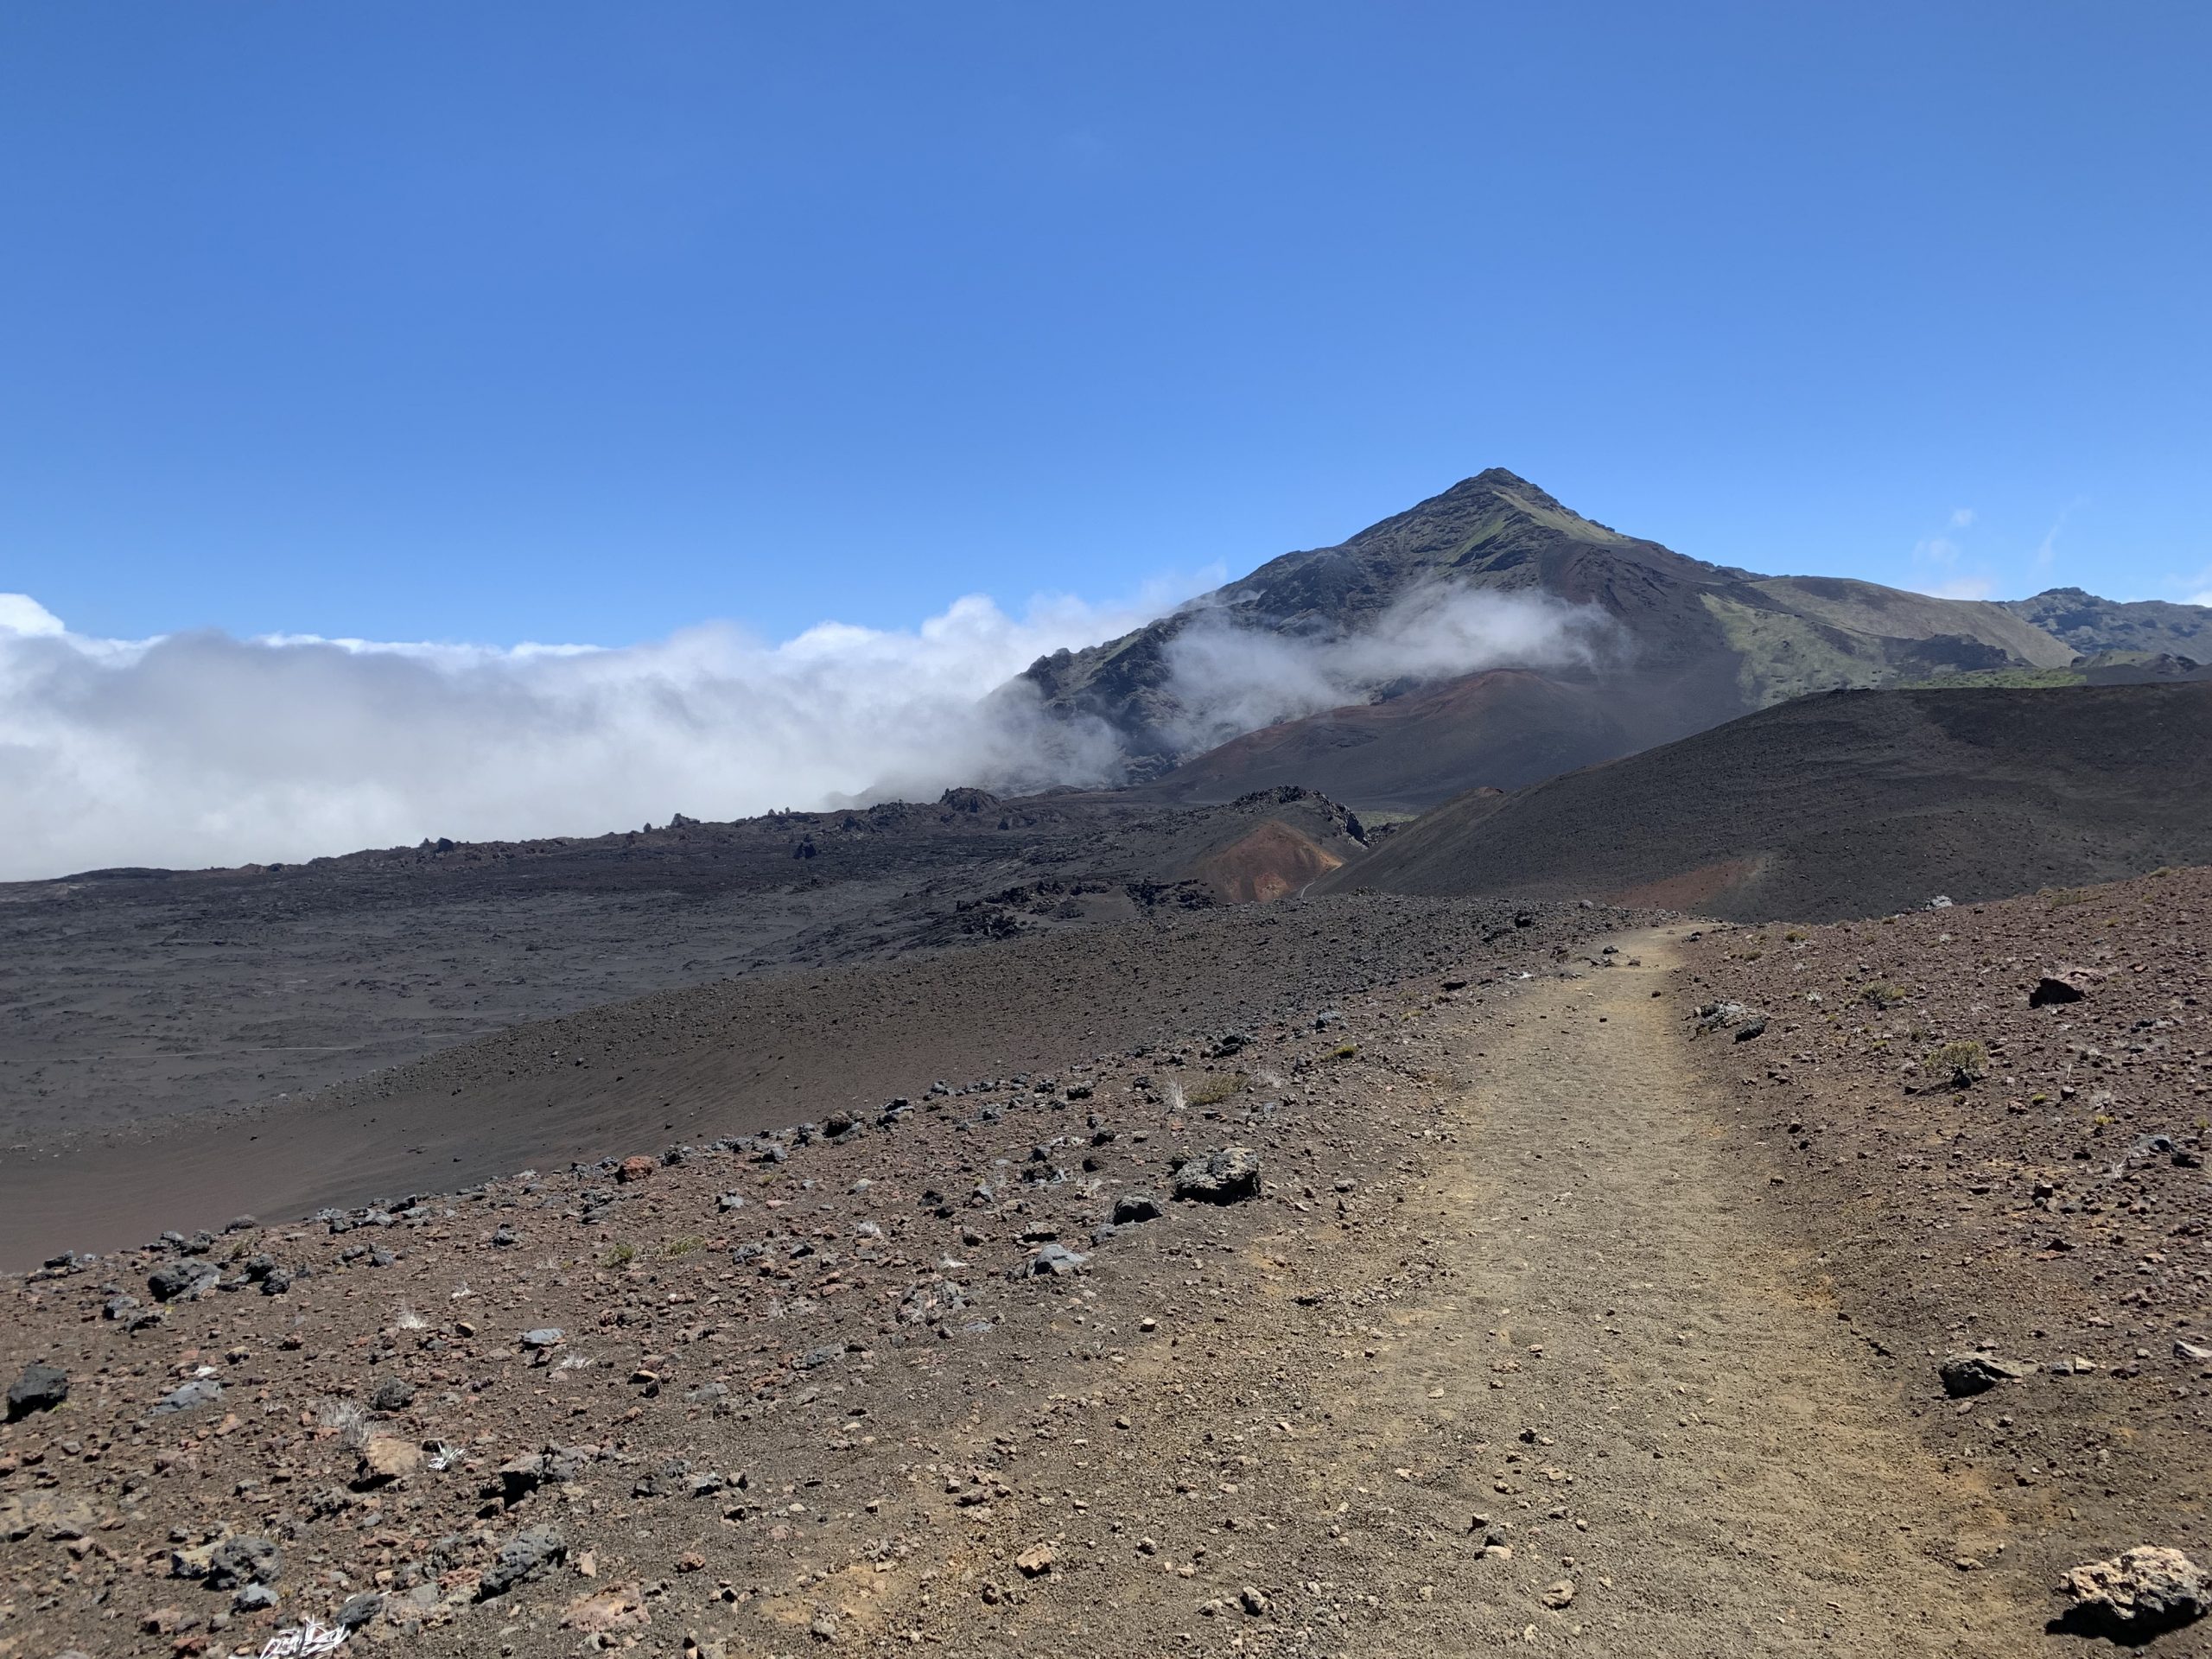
[(0, 1161), (327, 1088), (648, 991), (1254, 898), (1270, 847), (1254, 858), (1245, 838), (1270, 825), (1296, 858), (1363, 852), (1356, 818), (1305, 790), (1223, 807), (949, 790), (606, 836), (0, 883)]

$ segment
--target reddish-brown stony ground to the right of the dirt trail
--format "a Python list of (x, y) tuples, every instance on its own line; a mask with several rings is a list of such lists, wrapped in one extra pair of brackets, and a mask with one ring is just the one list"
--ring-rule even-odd
[[(1989, 1493), (1962, 1566), (2203, 1548), (2212, 872), (1692, 951), (1690, 995), (1765, 1022), (1694, 1053), (1770, 1206), (1869, 1374)], [(1962, 1360), (1986, 1391), (1944, 1387)]]

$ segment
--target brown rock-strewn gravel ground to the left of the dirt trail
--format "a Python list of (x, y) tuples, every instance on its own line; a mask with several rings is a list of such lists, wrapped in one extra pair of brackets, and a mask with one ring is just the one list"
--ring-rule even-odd
[[(4, 1287), (0, 1369), (66, 1398), (0, 1429), (0, 1641), (995, 1652), (1071, 1582), (1263, 1648), (1365, 1624), (1340, 1571), (1270, 1559), (1305, 1500), (1223, 1409), (1294, 1409), (1294, 1352), (1254, 1360), (1287, 1321), (1358, 1343), (1449, 1272), (1387, 1225), (1440, 1146), (1422, 1015), (1484, 1020), (1626, 920), (1506, 916), (1396, 982), (1369, 933), (1340, 1006), (58, 1259)], [(1298, 1429), (1327, 1449), (1318, 1407)], [(1110, 1617), (1077, 1648), (1126, 1650)]]

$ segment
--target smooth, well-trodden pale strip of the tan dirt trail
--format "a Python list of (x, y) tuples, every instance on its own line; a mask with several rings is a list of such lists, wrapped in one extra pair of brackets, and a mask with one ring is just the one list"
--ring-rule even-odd
[(2026, 1586), (1953, 1564), (2004, 1515), (1893, 1427), (1759, 1228), (1767, 1177), (1721, 1152), (1679, 998), (1652, 998), (1666, 938), (1621, 953), (1641, 971), (1531, 987), (1502, 1033), (1460, 1033), (1486, 1048), (1458, 1055), (1460, 1157), (1407, 1217), (1449, 1228), (1458, 1294), (1398, 1310), (1345, 1402), (1367, 1449), (1489, 1442), (1473, 1509), (1506, 1571), (1575, 1582), (1568, 1632), (1610, 1652), (2033, 1646)]

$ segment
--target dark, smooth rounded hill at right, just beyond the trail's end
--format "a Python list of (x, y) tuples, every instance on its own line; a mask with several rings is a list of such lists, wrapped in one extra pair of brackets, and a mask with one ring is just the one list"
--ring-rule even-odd
[(1515, 794), (1314, 891), (1840, 920), (2212, 863), (2212, 684), (1836, 692)]

